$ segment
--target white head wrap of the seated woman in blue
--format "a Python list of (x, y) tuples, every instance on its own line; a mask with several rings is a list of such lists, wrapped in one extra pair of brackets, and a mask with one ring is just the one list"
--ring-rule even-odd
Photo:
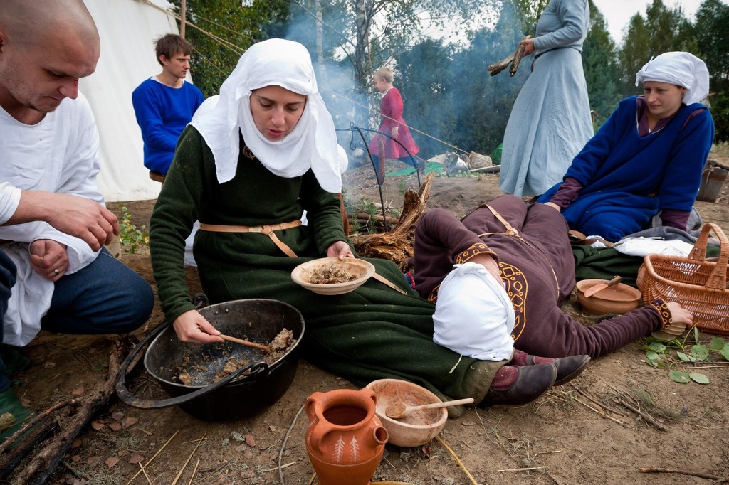
[(636, 86), (641, 82), (668, 82), (685, 87), (683, 102), (698, 103), (709, 94), (709, 69), (703, 60), (690, 52), (664, 52), (651, 58), (636, 73)]

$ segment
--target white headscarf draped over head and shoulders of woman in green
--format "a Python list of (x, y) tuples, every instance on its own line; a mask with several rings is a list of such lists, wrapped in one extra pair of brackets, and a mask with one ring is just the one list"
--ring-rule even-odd
[[(251, 114), (251, 92), (267, 86), (281, 86), (307, 97), (296, 127), (279, 141), (267, 140)], [(342, 190), (334, 121), (317, 90), (311, 56), (298, 42), (268, 39), (249, 47), (221, 85), (215, 107), (195, 117), (190, 125), (213, 152), (219, 184), (235, 176), (241, 130), (248, 148), (277, 176), (302, 176), (311, 167), (322, 189)]]

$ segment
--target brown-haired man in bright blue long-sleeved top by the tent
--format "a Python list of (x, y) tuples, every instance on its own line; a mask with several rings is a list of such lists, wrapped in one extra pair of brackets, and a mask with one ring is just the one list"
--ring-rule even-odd
[(162, 72), (139, 84), (132, 92), (132, 104), (144, 140), (144, 166), (164, 175), (172, 163), (177, 138), (204, 97), (198, 87), (184, 80), (190, 71), (190, 43), (168, 33), (156, 46)]

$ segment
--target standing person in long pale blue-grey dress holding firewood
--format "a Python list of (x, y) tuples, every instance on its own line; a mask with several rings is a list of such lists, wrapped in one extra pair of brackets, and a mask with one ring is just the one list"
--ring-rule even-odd
[(531, 74), (504, 133), (499, 186), (507, 194), (540, 195), (558, 181), (593, 135), (582, 42), (590, 28), (587, 0), (552, 0), (533, 39)]

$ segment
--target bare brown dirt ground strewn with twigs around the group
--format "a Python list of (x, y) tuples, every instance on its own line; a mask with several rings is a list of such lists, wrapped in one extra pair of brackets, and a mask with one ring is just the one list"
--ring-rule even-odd
[[(350, 182), (346, 197), (379, 202), (375, 180), (367, 170), (351, 170), (346, 178)], [(387, 178), (386, 205), (402, 205), (405, 186), (416, 189), (415, 176)], [(464, 216), (500, 193), (497, 174), (437, 177), (428, 207), (448, 208)], [(717, 202), (698, 202), (697, 207), (705, 221), (719, 224), (729, 234), (728, 202), (729, 184), (725, 184)], [(149, 224), (152, 203), (126, 204), (137, 225)], [(115, 209), (117, 204), (110, 202), (109, 207)], [(146, 248), (122, 259), (154, 284)], [(189, 281), (196, 285), (194, 271), (189, 272)], [(196, 291), (199, 287), (192, 288)], [(565, 311), (588, 321), (574, 301)], [(123, 338), (136, 342), (162, 321), (157, 307), (147, 327)], [(699, 335), (703, 343), (713, 337)], [(93, 392), (106, 379), (109, 349), (117, 338), (43, 332), (23, 350), (32, 366), (17, 376), (17, 393), (28, 406), (41, 411), (72, 395)], [(669, 379), (668, 368), (653, 368), (645, 360), (646, 352), (636, 342), (594, 360), (580, 378), (553, 388), (535, 403), (469, 409), (458, 419), (449, 419), (440, 436), (474, 481), (440, 441), (416, 449), (388, 445), (373, 481), (418, 485), (718, 483), (716, 478), (682, 473), (642, 473), (642, 468), (729, 479), (728, 366), (697, 365), (710, 383), (679, 384)], [(675, 364), (673, 368), (690, 367)], [(159, 393), (156, 383), (144, 376), (135, 377), (132, 386), (138, 393)], [(297, 413), (311, 393), (343, 387), (354, 388), (346, 379), (302, 360), (284, 397), (249, 419), (205, 422), (178, 407), (145, 410), (114, 403), (79, 435), (51, 483), (308, 484), (313, 476), (304, 444), (308, 419), (305, 413)], [(139, 473), (139, 462), (149, 460), (146, 478)]]

